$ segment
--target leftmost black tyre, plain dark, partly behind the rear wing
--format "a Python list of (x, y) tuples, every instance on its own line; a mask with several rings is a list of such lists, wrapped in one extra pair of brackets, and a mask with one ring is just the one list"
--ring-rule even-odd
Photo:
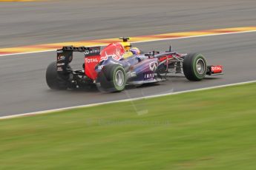
[(49, 64), (46, 70), (46, 82), (50, 89), (68, 89), (69, 75), (57, 72), (56, 61)]

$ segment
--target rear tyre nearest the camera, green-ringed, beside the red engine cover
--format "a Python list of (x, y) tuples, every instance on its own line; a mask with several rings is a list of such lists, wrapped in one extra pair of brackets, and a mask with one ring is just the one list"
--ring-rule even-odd
[(126, 85), (125, 69), (119, 64), (109, 64), (99, 72), (97, 82), (104, 91), (121, 92)]

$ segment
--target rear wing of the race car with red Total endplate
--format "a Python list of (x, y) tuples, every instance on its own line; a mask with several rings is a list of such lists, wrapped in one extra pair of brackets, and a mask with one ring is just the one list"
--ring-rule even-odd
[[(73, 60), (73, 52), (84, 52), (85, 53), (85, 75), (89, 78), (94, 79), (96, 73), (94, 67), (98, 64), (100, 58), (100, 47), (62, 47), (62, 49), (57, 50), (57, 71), (58, 72), (68, 72), (68, 64)], [(96, 61), (89, 62), (88, 61)], [(86, 68), (87, 67), (87, 68)]]

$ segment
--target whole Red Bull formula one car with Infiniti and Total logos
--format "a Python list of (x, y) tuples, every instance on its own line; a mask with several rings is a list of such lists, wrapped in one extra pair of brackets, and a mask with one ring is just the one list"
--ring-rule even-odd
[[(46, 81), (50, 89), (76, 89), (96, 84), (108, 92), (119, 92), (128, 84), (165, 81), (168, 74), (183, 73), (189, 81), (200, 81), (206, 75), (219, 75), (223, 67), (207, 66), (199, 53), (180, 54), (171, 50), (134, 54), (129, 38), (101, 47), (62, 47), (57, 60), (47, 67)], [(84, 52), (82, 69), (70, 67), (73, 52)]]

